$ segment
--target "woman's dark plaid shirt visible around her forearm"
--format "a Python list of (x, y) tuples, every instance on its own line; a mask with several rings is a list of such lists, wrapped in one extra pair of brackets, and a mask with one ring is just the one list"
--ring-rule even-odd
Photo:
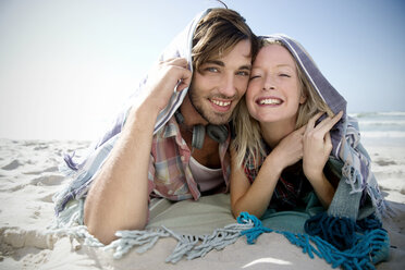
[[(267, 145), (265, 149), (268, 156), (271, 149)], [(248, 159), (246, 156), (244, 171), (250, 183), (255, 181), (262, 163), (266, 160), (266, 157), (259, 158), (258, 169), (255, 169), (254, 158)], [(275, 185), (273, 196), (271, 197), (269, 208), (273, 208), (278, 211), (292, 210), (302, 205), (302, 199), (310, 191), (312, 191), (312, 187), (309, 181), (305, 177), (303, 162), (298, 161), (297, 163), (285, 168), (281, 173), (281, 176)]]

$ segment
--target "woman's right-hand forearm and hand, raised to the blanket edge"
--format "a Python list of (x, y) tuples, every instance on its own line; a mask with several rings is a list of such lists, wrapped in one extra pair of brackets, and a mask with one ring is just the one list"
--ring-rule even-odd
[(333, 118), (322, 120), (315, 126), (316, 120), (322, 113), (316, 114), (308, 121), (304, 134), (303, 169), (323, 207), (328, 208), (333, 199), (335, 188), (323, 173), (324, 165), (332, 150), (329, 131), (342, 118), (342, 112)]

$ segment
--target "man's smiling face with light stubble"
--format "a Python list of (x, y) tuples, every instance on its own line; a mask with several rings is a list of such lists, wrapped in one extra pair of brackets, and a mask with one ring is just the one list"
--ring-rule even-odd
[(224, 124), (249, 82), (250, 41), (240, 41), (228, 54), (211, 59), (195, 71), (188, 90), (194, 109), (210, 124)]

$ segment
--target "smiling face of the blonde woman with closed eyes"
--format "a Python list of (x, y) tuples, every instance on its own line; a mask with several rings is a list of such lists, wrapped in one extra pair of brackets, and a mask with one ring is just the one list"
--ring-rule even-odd
[(302, 95), (295, 61), (280, 45), (260, 49), (253, 64), (246, 105), (250, 115), (263, 123), (286, 122), (295, 125)]

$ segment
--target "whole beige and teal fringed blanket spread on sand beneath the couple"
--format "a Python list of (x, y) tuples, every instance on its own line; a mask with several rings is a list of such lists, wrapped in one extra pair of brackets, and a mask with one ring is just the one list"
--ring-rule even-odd
[[(357, 235), (355, 244), (346, 249), (339, 249), (321, 236), (306, 233), (303, 226), (297, 229), (296, 223), (302, 223), (303, 219), (306, 220), (309, 217), (308, 212), (280, 212), (262, 221), (248, 213), (242, 213), (236, 222), (230, 210), (229, 195), (224, 194), (206, 196), (198, 201), (172, 202), (167, 199), (155, 199), (151, 201), (150, 222), (145, 231), (119, 231), (116, 232), (119, 238), (107, 246), (93, 237), (83, 225), (81, 217), (83, 200), (71, 201), (66, 209), (58, 219), (60, 223), (54, 224), (50, 233), (75, 237), (86, 245), (99, 247), (106, 251), (111, 250), (114, 259), (123, 258), (132, 249), (144, 254), (160, 241), (172, 238), (176, 241), (176, 245), (172, 249), (168, 248), (162, 257), (154, 259), (176, 263), (184, 259), (205, 257), (211, 250), (223, 248), (234, 250), (230, 246), (236, 245), (236, 241), (241, 237), (246, 237), (248, 244), (254, 244), (262, 233), (272, 232), (282, 235), (293, 244), (291, 248), (285, 248), (285, 244), (283, 245), (282, 253), (286, 257), (292, 257), (296, 253), (294, 251), (295, 245), (302, 248), (308, 259), (323, 259), (333, 268), (341, 266), (344, 269), (373, 269), (373, 263), (388, 258), (390, 246), (386, 232), (381, 229), (381, 223), (371, 218), (357, 222), (358, 228), (368, 229), (355, 231)], [(344, 236), (351, 237), (348, 234)], [(259, 246), (266, 250), (279, 248), (280, 243), (274, 241), (274, 237), (271, 240), (273, 241), (269, 242), (266, 238), (267, 242), (261, 242)], [(254, 249), (248, 246), (243, 248), (245, 260), (250, 261), (255, 257)], [(263, 250), (259, 255), (267, 253)], [(137, 261), (139, 259), (142, 258), (137, 258)], [(320, 263), (318, 260), (317, 263)], [(308, 262), (308, 265), (311, 263)]]

